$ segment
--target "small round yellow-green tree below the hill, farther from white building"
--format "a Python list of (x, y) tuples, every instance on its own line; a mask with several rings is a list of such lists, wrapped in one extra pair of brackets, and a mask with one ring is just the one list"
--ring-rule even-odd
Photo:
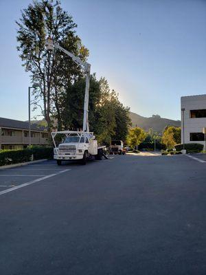
[(135, 146), (138, 146), (141, 142), (144, 142), (145, 139), (146, 132), (140, 127), (135, 127), (128, 131), (127, 142), (128, 146), (131, 148), (135, 148)]

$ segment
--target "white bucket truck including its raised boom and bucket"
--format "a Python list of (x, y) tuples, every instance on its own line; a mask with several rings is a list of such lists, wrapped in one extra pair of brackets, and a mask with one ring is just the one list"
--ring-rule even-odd
[[(61, 165), (62, 160), (80, 159), (82, 164), (86, 164), (87, 159), (95, 157), (95, 159), (102, 159), (102, 156), (107, 159), (104, 154), (106, 146), (98, 146), (98, 141), (92, 132), (89, 132), (88, 121), (88, 107), (89, 107), (89, 80), (91, 65), (83, 62), (71, 52), (68, 52), (63, 47), (52, 41), (51, 37), (47, 38), (47, 50), (58, 50), (64, 52), (72, 58), (72, 60), (79, 65), (86, 73), (86, 87), (84, 95), (84, 118), (83, 118), (83, 131), (56, 131), (52, 132), (52, 139), (54, 142), (54, 159), (58, 165)], [(65, 135), (64, 141), (56, 146), (55, 137), (58, 134)]]

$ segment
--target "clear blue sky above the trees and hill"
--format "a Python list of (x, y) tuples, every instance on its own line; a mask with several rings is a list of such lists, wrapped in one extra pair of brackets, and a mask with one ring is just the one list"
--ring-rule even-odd
[[(27, 120), (29, 74), (16, 25), (29, 0), (0, 0), (0, 117)], [(181, 96), (206, 94), (206, 1), (62, 0), (98, 78), (139, 115), (180, 118)]]

